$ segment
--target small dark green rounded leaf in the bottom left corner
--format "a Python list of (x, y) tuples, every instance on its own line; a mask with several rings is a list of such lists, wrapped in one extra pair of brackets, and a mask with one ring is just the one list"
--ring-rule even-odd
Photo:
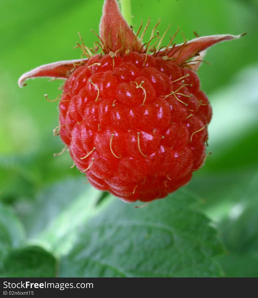
[(0, 277), (55, 277), (57, 260), (39, 246), (10, 250), (0, 269)]

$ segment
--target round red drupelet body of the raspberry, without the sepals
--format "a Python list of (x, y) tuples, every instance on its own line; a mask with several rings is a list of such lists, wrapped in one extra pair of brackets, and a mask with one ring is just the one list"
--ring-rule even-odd
[(212, 109), (199, 87), (173, 60), (95, 55), (64, 85), (61, 139), (96, 188), (130, 202), (164, 198), (205, 159)]

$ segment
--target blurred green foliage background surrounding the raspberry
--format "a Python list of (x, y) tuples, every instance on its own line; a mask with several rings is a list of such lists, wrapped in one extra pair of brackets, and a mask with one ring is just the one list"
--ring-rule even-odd
[(150, 16), (188, 39), (248, 32), (209, 49), (212, 65), (198, 71), (212, 155), (186, 187), (141, 209), (83, 184), (68, 152), (53, 156), (57, 103), (43, 94), (56, 98), (62, 81), (17, 85), (36, 66), (79, 59), (77, 31), (92, 46), (102, 3), (0, 1), (0, 276), (258, 277), (258, 1), (131, 1), (137, 27)]

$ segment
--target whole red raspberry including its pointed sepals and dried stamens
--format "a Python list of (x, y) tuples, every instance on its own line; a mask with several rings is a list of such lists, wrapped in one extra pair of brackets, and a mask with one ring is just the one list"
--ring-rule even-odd
[(149, 23), (134, 33), (117, 1), (105, 0), (98, 40), (77, 43), (81, 59), (39, 66), (18, 81), (65, 80), (54, 135), (94, 187), (127, 202), (164, 198), (202, 167), (212, 108), (196, 71), (207, 48), (242, 36), (175, 44), (177, 30), (163, 45), (169, 28), (159, 35), (158, 21), (143, 43)]

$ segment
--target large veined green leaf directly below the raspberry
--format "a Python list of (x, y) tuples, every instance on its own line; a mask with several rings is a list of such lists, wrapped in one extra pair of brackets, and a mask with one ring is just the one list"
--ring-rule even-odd
[(60, 276), (220, 276), (215, 257), (223, 249), (193, 202), (184, 190), (139, 209), (114, 200), (80, 227), (74, 248), (61, 259)]

